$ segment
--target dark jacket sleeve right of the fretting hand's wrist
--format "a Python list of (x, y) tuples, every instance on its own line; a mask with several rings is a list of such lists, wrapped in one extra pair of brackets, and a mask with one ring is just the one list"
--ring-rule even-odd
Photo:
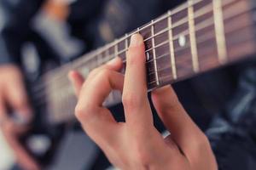
[(236, 94), (207, 130), (219, 170), (256, 167), (256, 64), (250, 65), (241, 71)]

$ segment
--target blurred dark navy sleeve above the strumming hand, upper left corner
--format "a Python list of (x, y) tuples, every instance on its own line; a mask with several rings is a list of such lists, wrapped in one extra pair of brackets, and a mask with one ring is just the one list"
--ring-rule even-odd
[(0, 29), (0, 64), (19, 63), (20, 48), (26, 41), (31, 21), (44, 0), (2, 0), (3, 27)]

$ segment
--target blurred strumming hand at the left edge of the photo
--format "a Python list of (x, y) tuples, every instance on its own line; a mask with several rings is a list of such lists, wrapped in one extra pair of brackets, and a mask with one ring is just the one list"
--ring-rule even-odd
[(16, 65), (0, 66), (0, 121), (1, 130), (9, 146), (14, 150), (16, 161), (26, 170), (38, 170), (38, 164), (28, 155), (19, 142), (21, 134), (26, 133), (27, 125), (14, 121), (9, 116), (9, 107), (23, 117), (26, 122), (32, 120), (32, 109), (29, 105), (23, 76)]

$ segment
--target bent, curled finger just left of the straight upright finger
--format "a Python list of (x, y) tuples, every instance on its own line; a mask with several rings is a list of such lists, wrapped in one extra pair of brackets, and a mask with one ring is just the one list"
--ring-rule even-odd
[[(115, 59), (114, 64), (119, 63), (121, 60)], [(94, 76), (90, 75), (84, 82), (75, 111), (86, 133), (101, 147), (112, 140), (118, 126), (111, 112), (102, 106), (113, 89), (121, 91), (123, 88), (124, 76), (114, 70), (109, 68), (90, 73)]]

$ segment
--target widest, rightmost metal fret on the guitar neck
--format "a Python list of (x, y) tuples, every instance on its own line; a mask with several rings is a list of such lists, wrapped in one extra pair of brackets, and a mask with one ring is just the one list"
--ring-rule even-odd
[(224, 35), (224, 21), (221, 0), (212, 0), (214, 26), (218, 49), (218, 60), (221, 64), (227, 62), (227, 47)]

